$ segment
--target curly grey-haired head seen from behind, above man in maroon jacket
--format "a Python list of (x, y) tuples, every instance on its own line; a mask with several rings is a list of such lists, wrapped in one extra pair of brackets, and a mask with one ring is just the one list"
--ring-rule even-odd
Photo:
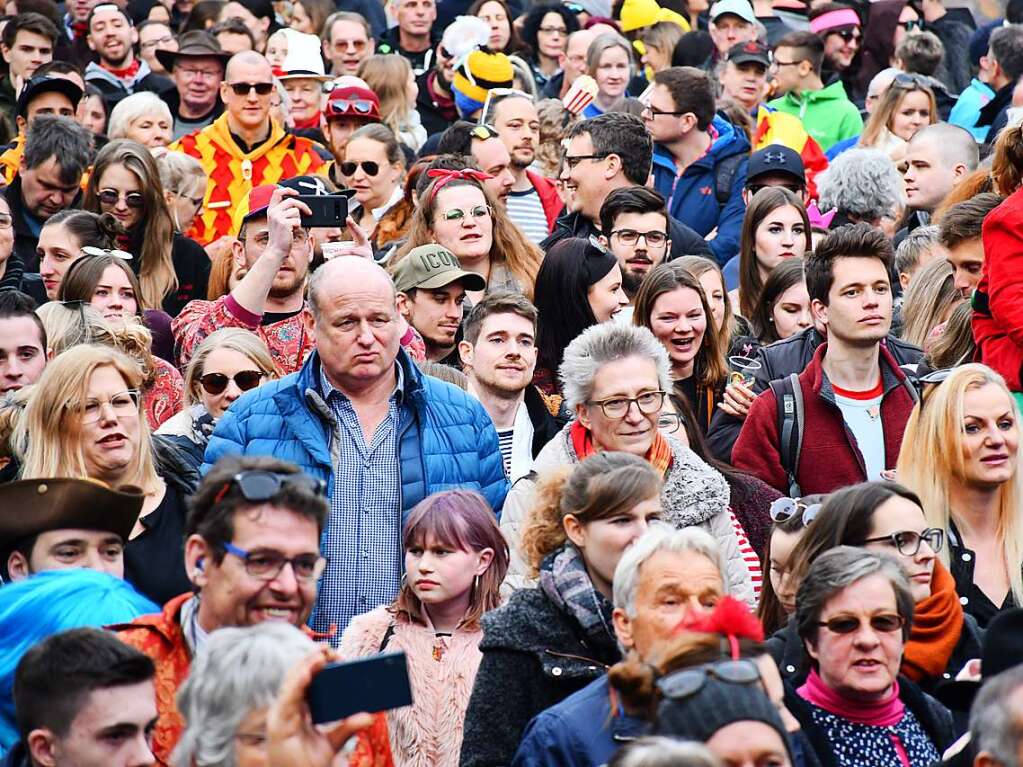
[(832, 229), (859, 222), (883, 228), (885, 220), (898, 220), (905, 205), (902, 177), (879, 149), (842, 152), (816, 183), (820, 210), (838, 209)]

